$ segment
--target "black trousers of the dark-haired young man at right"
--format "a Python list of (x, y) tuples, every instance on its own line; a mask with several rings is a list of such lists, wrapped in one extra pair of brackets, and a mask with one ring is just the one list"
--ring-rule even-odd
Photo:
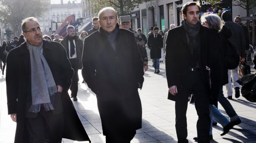
[(209, 92), (203, 82), (202, 72), (191, 71), (183, 86), (177, 86), (177, 99), (175, 102), (176, 132), (178, 143), (188, 143), (187, 136), (187, 108), (188, 96), (193, 94), (198, 115), (196, 124), (198, 143), (210, 143), (210, 116), (209, 116)]

